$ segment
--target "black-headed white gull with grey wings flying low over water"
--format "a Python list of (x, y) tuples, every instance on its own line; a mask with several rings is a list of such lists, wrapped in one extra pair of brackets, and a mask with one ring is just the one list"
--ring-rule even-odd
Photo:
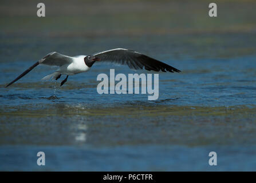
[(75, 57), (69, 57), (67, 55), (60, 54), (56, 51), (45, 55), (44, 58), (40, 59), (25, 70), (21, 75), (15, 78), (13, 81), (8, 83), (5, 87), (10, 86), (12, 83), (18, 81), (24, 75), (29, 73), (34, 67), (38, 65), (49, 65), (49, 66), (58, 66), (59, 68), (54, 71), (54, 73), (46, 75), (45, 79), (59, 79), (61, 75), (66, 75), (66, 78), (61, 82), (61, 85), (67, 81), (69, 75), (74, 75), (78, 73), (83, 73), (93, 66), (95, 62), (111, 62), (117, 63), (119, 65), (128, 65), (130, 69), (145, 69), (153, 71), (170, 71), (171, 73), (180, 72), (180, 70), (175, 69), (174, 67), (167, 65), (166, 63), (160, 62), (157, 59), (148, 57), (147, 55), (138, 53), (137, 51), (132, 51), (128, 49), (112, 49), (107, 51), (102, 51), (100, 53), (92, 55), (78, 55)]

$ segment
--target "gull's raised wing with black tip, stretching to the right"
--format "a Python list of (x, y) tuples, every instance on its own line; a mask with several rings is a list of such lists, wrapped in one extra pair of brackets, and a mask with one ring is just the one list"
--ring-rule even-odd
[(103, 51), (94, 54), (95, 57), (100, 58), (102, 62), (112, 62), (121, 65), (128, 65), (131, 69), (145, 69), (153, 71), (170, 71), (180, 72), (180, 70), (167, 65), (166, 63), (157, 61), (157, 59), (148, 57), (147, 55), (138, 53), (137, 51), (127, 50), (127, 49), (113, 49)]

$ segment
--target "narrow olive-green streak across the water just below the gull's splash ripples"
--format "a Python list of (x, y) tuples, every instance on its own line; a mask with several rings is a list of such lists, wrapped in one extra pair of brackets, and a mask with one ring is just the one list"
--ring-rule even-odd
[(56, 104), (45, 109), (29, 109), (29, 106), (19, 106), (17, 109), (0, 110), (0, 116), (46, 117), (46, 116), (235, 116), (243, 117), (254, 114), (255, 106), (117, 106), (103, 108), (86, 108), (86, 106), (69, 106)]

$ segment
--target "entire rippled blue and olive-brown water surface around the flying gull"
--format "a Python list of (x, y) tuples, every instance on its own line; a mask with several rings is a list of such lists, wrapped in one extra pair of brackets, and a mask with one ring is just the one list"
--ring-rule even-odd
[[(235, 17), (237, 22), (225, 16), (208, 24), (198, 11), (194, 18), (200, 21), (193, 24), (184, 11), (187, 6), (179, 2), (168, 8), (157, 4), (161, 13), (147, 17), (155, 7), (151, 3), (137, 2), (136, 10), (127, 3), (118, 17), (111, 10), (121, 5), (106, 6), (106, 12), (93, 17), (96, 31), (79, 23), (88, 21), (83, 14), (55, 17), (70, 21), (70, 27), (49, 17), (38, 25), (19, 15), (21, 11), (15, 11), (17, 19), (1, 19), (7, 26), (0, 32), (0, 170), (256, 170), (253, 6), (235, 3), (234, 9), (247, 8), (243, 16), (234, 14), (242, 16)], [(203, 6), (195, 4), (200, 6), (190, 6)], [(184, 8), (180, 22), (171, 16), (179, 14), (178, 5)], [(232, 13), (226, 3), (223, 7)], [(171, 24), (164, 22), (167, 19)], [(113, 20), (120, 25), (115, 31)], [(11, 27), (23, 28), (18, 32)], [(144, 34), (145, 27), (151, 28)], [(57, 82), (41, 81), (56, 68), (38, 66), (4, 87), (51, 51), (78, 55), (115, 47), (148, 54), (182, 72), (159, 74), (156, 101), (148, 101), (147, 94), (97, 93), (97, 75), (109, 75), (109, 69), (115, 74), (146, 73), (127, 66), (93, 65), (88, 73), (70, 76), (61, 87), (63, 75)], [(39, 151), (46, 154), (46, 166), (36, 164)], [(218, 154), (218, 166), (208, 165), (211, 151)]]

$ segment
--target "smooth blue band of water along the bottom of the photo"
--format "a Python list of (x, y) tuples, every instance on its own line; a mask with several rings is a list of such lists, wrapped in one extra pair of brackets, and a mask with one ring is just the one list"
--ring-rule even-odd
[[(255, 146), (4, 146), (0, 170), (37, 171), (251, 171), (255, 170)], [(208, 153), (218, 152), (217, 166), (208, 164)], [(45, 152), (45, 166), (36, 164), (37, 152)], [(245, 159), (246, 156), (246, 159)], [(104, 158), (103, 158), (104, 157)], [(21, 168), (22, 167), (22, 168)]]

